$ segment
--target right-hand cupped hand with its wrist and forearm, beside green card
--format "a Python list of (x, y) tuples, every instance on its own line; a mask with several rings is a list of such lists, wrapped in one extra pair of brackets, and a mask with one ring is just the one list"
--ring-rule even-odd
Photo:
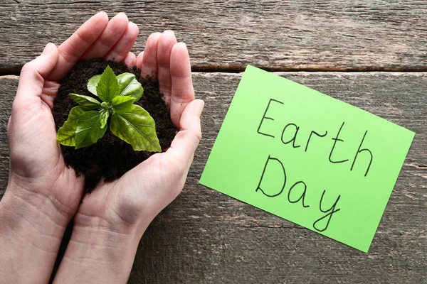
[(119, 180), (100, 182), (85, 196), (56, 283), (125, 283), (145, 229), (184, 186), (201, 138), (204, 107), (194, 100), (186, 45), (176, 43), (172, 31), (154, 33), (136, 65), (142, 75), (158, 78), (180, 131), (166, 152), (152, 155)]

